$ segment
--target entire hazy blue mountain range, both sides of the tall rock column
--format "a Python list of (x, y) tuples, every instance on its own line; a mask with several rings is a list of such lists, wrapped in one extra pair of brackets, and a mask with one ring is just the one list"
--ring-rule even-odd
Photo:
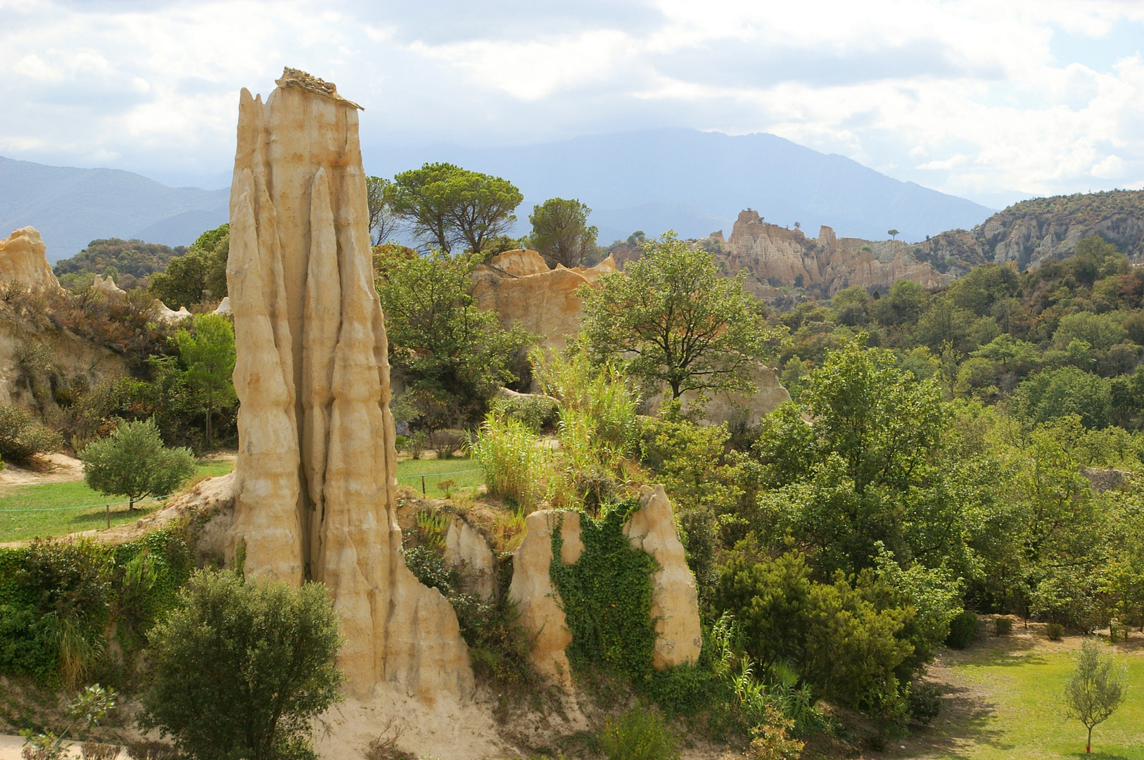
[[(604, 244), (635, 230), (658, 236), (674, 229), (683, 237), (730, 232), (744, 208), (784, 227), (800, 222), (811, 236), (827, 224), (840, 237), (883, 239), (897, 229), (906, 240), (969, 229), (993, 212), (769, 134), (654, 129), (509, 148), (366, 144), (363, 151), (366, 171), (381, 176), (452, 161), (510, 180), (525, 196), (518, 235), (529, 230), (533, 205), (579, 198), (594, 209), (590, 221)], [(0, 158), (0, 236), (33, 225), (50, 261), (97, 238), (188, 245), (227, 221), (228, 195), (225, 188), (168, 188), (118, 169)]]

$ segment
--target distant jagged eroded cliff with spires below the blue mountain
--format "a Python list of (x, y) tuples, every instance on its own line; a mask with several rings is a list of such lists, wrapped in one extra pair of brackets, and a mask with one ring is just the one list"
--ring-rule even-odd
[(747, 271), (745, 286), (762, 299), (776, 298), (780, 287), (804, 287), (829, 298), (853, 285), (885, 291), (899, 279), (923, 287), (939, 287), (952, 277), (920, 261), (901, 240), (867, 242), (839, 238), (829, 227), (818, 238), (762, 221), (756, 211), (744, 211), (731, 237), (715, 247), (715, 260), (728, 276)]

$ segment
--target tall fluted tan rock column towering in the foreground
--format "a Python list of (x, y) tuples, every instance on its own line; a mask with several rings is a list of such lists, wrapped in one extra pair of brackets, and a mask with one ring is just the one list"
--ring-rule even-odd
[(347, 689), (434, 699), (472, 672), (452, 605), (405, 567), (394, 420), (373, 287), (357, 106), (287, 69), (244, 89), (228, 290), (240, 401), (228, 561), (247, 577), (326, 584)]

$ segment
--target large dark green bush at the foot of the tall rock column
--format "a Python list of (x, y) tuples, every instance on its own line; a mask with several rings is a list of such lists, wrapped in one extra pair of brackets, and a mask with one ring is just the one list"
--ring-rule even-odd
[(198, 571), (152, 628), (140, 726), (191, 760), (316, 758), (311, 720), (341, 699), (339, 618), (321, 584)]

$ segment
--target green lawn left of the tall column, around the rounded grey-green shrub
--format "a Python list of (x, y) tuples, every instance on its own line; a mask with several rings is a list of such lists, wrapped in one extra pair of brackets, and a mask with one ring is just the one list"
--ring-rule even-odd
[[(192, 477), (225, 475), (233, 469), (233, 462), (225, 460), (200, 461)], [(50, 538), (81, 530), (106, 528), (109, 501), (120, 501), (120, 497), (106, 497), (87, 488), (82, 481), (71, 483), (45, 483), (42, 485), (14, 485), (0, 491), (0, 543), (29, 538)], [(88, 509), (49, 509), (50, 507), (79, 507), (96, 505)], [(111, 524), (119, 525), (138, 520), (159, 508), (159, 502), (146, 500), (129, 512), (126, 504), (111, 507)], [(17, 512), (38, 509), (39, 512)]]

